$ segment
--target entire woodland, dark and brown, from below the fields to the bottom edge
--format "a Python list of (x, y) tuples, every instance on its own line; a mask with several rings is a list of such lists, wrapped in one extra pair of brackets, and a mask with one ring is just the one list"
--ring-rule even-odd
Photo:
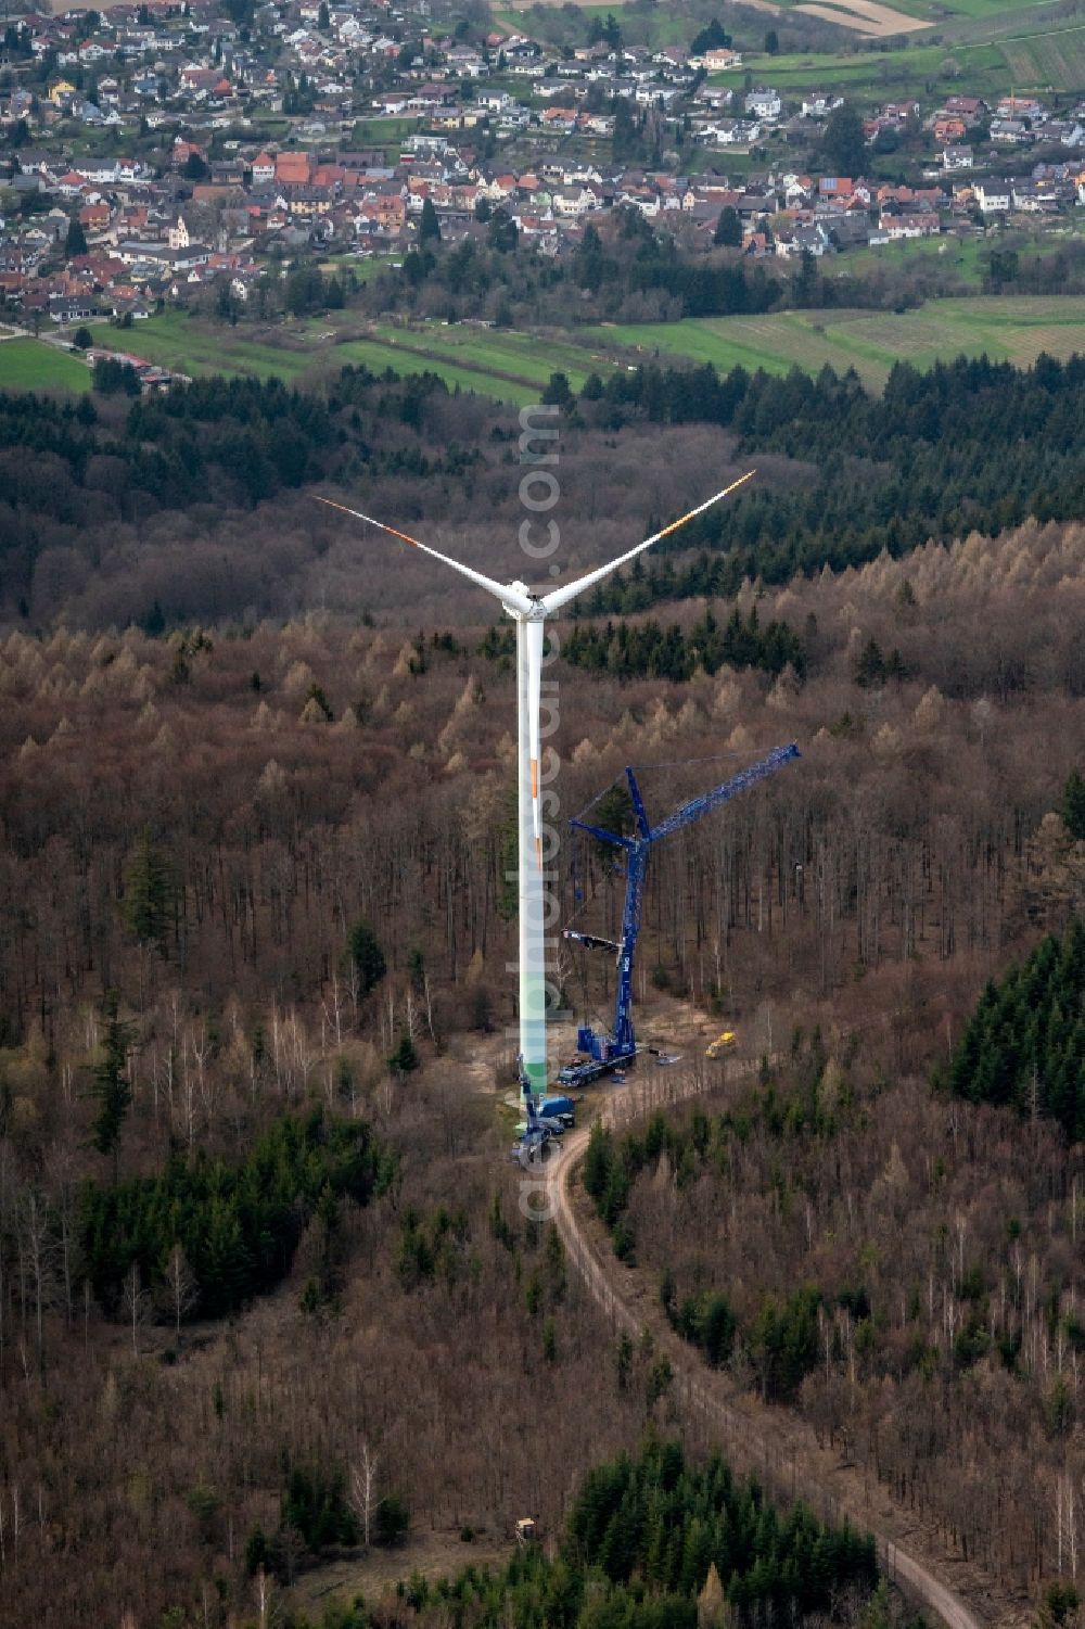
[[(608, 1220), (705, 1362), (1036, 1601), (1075, 1575), (1085, 1471), (1077, 1117), (1030, 1087), (1075, 1067), (1069, 997), (999, 1090), (984, 1056), (1031, 999), (1007, 968), (1078, 943), (1085, 528), (1074, 365), (1013, 383), (1039, 463), (1020, 419), (976, 428), (976, 526), (953, 458), (938, 484), (937, 438), (999, 378), (947, 370), (896, 440), (829, 378), (731, 376), (730, 419), (715, 376), (697, 411), (570, 406), (562, 569), (769, 453), (756, 503), (556, 624), (547, 740), (560, 924), (611, 933), (622, 880), (565, 819), (627, 762), (663, 813), (800, 743), (653, 855), (642, 1033), (704, 1015), (766, 1064), (637, 1131)], [(336, 391), (3, 404), (0, 1621), (288, 1621), (329, 1554), (466, 1533), (466, 1565), (531, 1513), (546, 1556), (455, 1600), (415, 1585), (386, 1621), (526, 1626), (560, 1596), (570, 1626), (881, 1629), (863, 1543), (733, 1486), (652, 1341), (616, 1346), (518, 1209), (505, 629), (311, 502), (363, 490), (503, 570), (518, 428), (433, 381)], [(743, 402), (775, 406), (749, 427)], [(837, 407), (855, 533), (803, 575)], [(567, 1018), (609, 981), (565, 948)], [(756, 1513), (741, 1556), (723, 1508)], [(800, 1598), (803, 1546), (831, 1600)]]

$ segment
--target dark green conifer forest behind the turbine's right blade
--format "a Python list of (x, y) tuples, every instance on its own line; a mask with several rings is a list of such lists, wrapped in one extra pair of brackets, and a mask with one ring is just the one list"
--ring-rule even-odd
[(637, 420), (723, 425), (740, 437), (741, 454), (772, 451), (811, 471), (795, 485), (754, 485), (709, 512), (657, 551), (702, 547), (702, 557), (681, 567), (635, 562), (596, 588), (583, 616), (674, 593), (731, 595), (743, 578), (779, 583), (824, 565), (844, 570), (883, 551), (899, 557), (929, 538), (994, 534), (1030, 515), (1074, 520), (1080, 508), (1080, 357), (1041, 357), (1028, 370), (960, 357), (929, 373), (898, 362), (880, 396), (854, 370), (775, 376), (652, 365), (606, 381), (590, 376), (577, 407), (611, 430)]

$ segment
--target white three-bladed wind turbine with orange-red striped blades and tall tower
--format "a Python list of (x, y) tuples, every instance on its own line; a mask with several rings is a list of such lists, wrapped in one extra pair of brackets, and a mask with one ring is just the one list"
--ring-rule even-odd
[(469, 583), (477, 588), (484, 588), (492, 595), (508, 613), (508, 616), (516, 624), (516, 702), (518, 702), (518, 730), (516, 730), (516, 746), (518, 746), (518, 792), (520, 792), (520, 855), (518, 855), (518, 872), (520, 872), (520, 1067), (523, 1072), (525, 1091), (529, 1090), (533, 1095), (546, 1091), (546, 927), (544, 927), (544, 898), (542, 883), (546, 881), (542, 873), (542, 831), (539, 818), (539, 702), (542, 694), (542, 626), (546, 617), (554, 611), (560, 611), (567, 606), (570, 599), (583, 593), (585, 588), (591, 588), (595, 583), (609, 577), (616, 572), (619, 565), (626, 565), (627, 560), (635, 559), (650, 549), (653, 542), (661, 538), (668, 538), (679, 526), (694, 520), (697, 515), (704, 515), (707, 508), (718, 503), (743, 482), (749, 481), (754, 474), (751, 469), (740, 481), (733, 481), (730, 487), (722, 492), (715, 492), (697, 508), (689, 510), (679, 520), (671, 521), (661, 531), (653, 533), (639, 542), (635, 549), (629, 549), (626, 554), (619, 554), (616, 560), (609, 560), (608, 565), (600, 565), (595, 572), (586, 572), (585, 577), (578, 577), (573, 583), (565, 583), (562, 588), (552, 588), (547, 595), (536, 595), (526, 583), (497, 583), (492, 577), (484, 577), (482, 572), (474, 572), (469, 565), (461, 565), (459, 560), (450, 560), (446, 554), (438, 554), (437, 549), (430, 549), (428, 544), (419, 542), (417, 538), (411, 538), (406, 531), (398, 531), (394, 526), (384, 525), (381, 520), (375, 520), (371, 515), (363, 515), (360, 510), (347, 508), (344, 503), (332, 503), (331, 498), (318, 498), (319, 503), (327, 503), (329, 508), (340, 510), (344, 515), (352, 515), (355, 520), (363, 520), (370, 526), (378, 526), (381, 531), (389, 533), (393, 538), (399, 538), (402, 542), (409, 542), (412, 549), (420, 549), (424, 554), (432, 555), (435, 560), (441, 560), (450, 565), (453, 572), (459, 572), (466, 577)]

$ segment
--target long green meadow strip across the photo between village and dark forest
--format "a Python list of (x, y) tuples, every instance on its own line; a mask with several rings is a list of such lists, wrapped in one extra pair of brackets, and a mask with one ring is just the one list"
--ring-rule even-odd
[[(953, 248), (964, 274), (974, 272), (973, 246)], [(740, 365), (769, 373), (792, 367), (810, 373), (826, 365), (837, 371), (855, 368), (872, 389), (881, 389), (898, 360), (929, 368), (958, 355), (986, 353), (1028, 367), (1041, 352), (1065, 358), (1085, 350), (1085, 296), (974, 295), (932, 300), (903, 313), (819, 310), (598, 324), (564, 339), (466, 323), (380, 323), (358, 334), (349, 331), (345, 314), (287, 324), (279, 332), (282, 339), (275, 331), (253, 332), (244, 324), (231, 329), (171, 311), (132, 332), (99, 324), (94, 339), (191, 376), (279, 375), (305, 384), (354, 363), (402, 376), (435, 373), (450, 389), (525, 406), (539, 399), (552, 373), (564, 373), (577, 393), (590, 373), (606, 376), (619, 367), (673, 357), (710, 362), (722, 371)], [(90, 375), (72, 357), (34, 340), (0, 344), (0, 388), (33, 384), (86, 389)]]

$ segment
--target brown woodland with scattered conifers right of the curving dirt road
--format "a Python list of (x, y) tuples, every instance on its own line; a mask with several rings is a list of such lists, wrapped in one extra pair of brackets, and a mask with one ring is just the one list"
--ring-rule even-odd
[[(593, 1132), (585, 1186), (679, 1336), (1004, 1577), (1077, 1562), (1080, 1145), (790, 1038), (722, 1113)], [(844, 1173), (847, 1173), (844, 1176)]]

